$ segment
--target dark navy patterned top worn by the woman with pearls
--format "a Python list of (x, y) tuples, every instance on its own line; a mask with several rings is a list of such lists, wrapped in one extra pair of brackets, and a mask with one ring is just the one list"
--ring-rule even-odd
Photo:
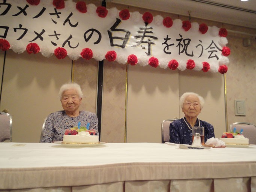
[[(186, 118), (184, 118), (186, 121)], [(183, 118), (177, 119), (170, 124), (170, 142), (178, 144), (192, 144), (192, 130), (188, 128), (189, 123)], [(206, 121), (200, 121), (200, 126), (204, 127), (204, 142), (211, 137), (215, 137), (213, 125)], [(195, 127), (199, 126), (198, 119), (196, 119)], [(192, 129), (191, 125), (189, 127)]]

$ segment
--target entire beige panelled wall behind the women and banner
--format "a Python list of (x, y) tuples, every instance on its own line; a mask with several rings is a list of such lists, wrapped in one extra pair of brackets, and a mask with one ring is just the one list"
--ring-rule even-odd
[[(119, 10), (127, 8), (109, 2), (107, 6), (115, 6)], [(145, 12), (145, 9), (137, 7), (129, 7), (129, 10)], [(152, 13), (163, 17), (170, 16), (173, 19), (188, 19), (170, 13)], [(256, 34), (256, 30), (253, 29), (219, 22), (194, 18), (192, 21)], [(244, 37), (248, 36), (229, 33), (227, 37), (228, 46), (231, 48), (230, 64), (226, 73), (227, 125), (237, 121), (256, 124), (256, 42), (250, 37), (252, 45), (243, 47)], [(3, 69), (3, 57), (4, 52), (0, 51), (0, 73)], [(13, 116), (14, 142), (39, 141), (43, 119), (49, 113), (61, 110), (57, 97), (58, 90), (63, 83), (71, 81), (71, 63), (68, 57), (58, 60), (54, 56), (45, 58), (41, 54), (15, 54), (12, 50), (6, 52), (0, 110), (8, 109)], [(84, 92), (82, 110), (96, 112), (97, 71), (98, 61), (85, 61), (81, 58), (74, 61), (73, 80), (82, 86)], [(205, 106), (199, 118), (214, 125), (216, 136), (219, 137), (225, 130), (225, 92), (222, 74), (129, 66), (128, 92), (125, 89), (126, 75), (125, 65), (104, 61), (102, 141), (124, 142), (124, 135), (127, 133), (127, 142), (160, 142), (161, 121), (183, 116), (178, 101), (179, 96), (187, 91), (198, 92), (205, 98)], [(246, 100), (246, 116), (235, 116), (234, 99)]]

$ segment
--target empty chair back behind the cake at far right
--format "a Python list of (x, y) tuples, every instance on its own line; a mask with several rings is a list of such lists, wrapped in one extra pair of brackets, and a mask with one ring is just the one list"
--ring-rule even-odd
[(237, 132), (240, 132), (243, 129), (243, 135), (246, 138), (249, 138), (249, 144), (256, 144), (256, 127), (254, 124), (247, 122), (236, 122), (230, 125), (230, 131), (233, 131), (234, 127)]

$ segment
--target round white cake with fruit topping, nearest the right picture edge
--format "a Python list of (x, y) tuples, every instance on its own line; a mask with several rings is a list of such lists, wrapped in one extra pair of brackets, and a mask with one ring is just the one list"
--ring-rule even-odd
[(240, 144), (249, 145), (249, 138), (245, 138), (238, 132), (223, 132), (220, 140), (224, 141), (226, 144)]

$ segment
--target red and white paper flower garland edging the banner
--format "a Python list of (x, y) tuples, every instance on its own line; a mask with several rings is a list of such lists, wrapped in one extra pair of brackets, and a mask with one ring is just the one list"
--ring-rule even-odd
[[(27, 0), (27, 3), (31, 4), (31, 5), (38, 5), (40, 3), (40, 0)], [(65, 7), (65, 1), (64, 0), (53, 0), (52, 4), (56, 7), (56, 9), (63, 9)], [(78, 1), (76, 3), (76, 9), (80, 12), (80, 13), (86, 13), (88, 12), (88, 7), (86, 6), (86, 3), (84, 1)], [(89, 11), (90, 11), (90, 7), (89, 7)], [(116, 8), (112, 9), (112, 12), (110, 12), (110, 14), (115, 15), (114, 12), (117, 12)], [(104, 6), (99, 6), (96, 9), (96, 13), (99, 17), (101, 18), (105, 18), (107, 16), (107, 14), (109, 13), (108, 10), (106, 9), (106, 7)], [(138, 12), (134, 12), (132, 14), (132, 16), (130, 15), (130, 12), (128, 9), (124, 9), (121, 10), (119, 12), (119, 17), (122, 20), (127, 20), (129, 18), (132, 18), (134, 20), (134, 22), (138, 22), (140, 13)], [(153, 21), (153, 15), (150, 12), (145, 12), (142, 16), (142, 19), (144, 21), (144, 23), (150, 24)], [(160, 25), (164, 25), (164, 27), (170, 28), (173, 27), (173, 25), (178, 25), (176, 22), (177, 21), (173, 21), (170, 17), (165, 17), (164, 19), (161, 16), (156, 16), (155, 17), (155, 22), (156, 24)], [(191, 28), (198, 28), (198, 31), (201, 34), (205, 34), (208, 31), (208, 26), (204, 23), (200, 24), (198, 26), (197, 23), (192, 23), (190, 21), (182, 21), (182, 28), (185, 31), (189, 31), (191, 30)], [(218, 32), (217, 32), (218, 30)], [(216, 35), (216, 32), (218, 33), (218, 35), (221, 38), (224, 38), (227, 36), (228, 32), (225, 28), (220, 28), (216, 30), (213, 30), (214, 35)], [(221, 40), (223, 45), (226, 45), (226, 39), (222, 39)], [(10, 43), (5, 40), (5, 39), (0, 39), (0, 49), (2, 51), (7, 51), (10, 48)], [(18, 53), (21, 53), (22, 50), (20, 50), (21, 48), (19, 48), (19, 46), (17, 46), (16, 48), (13, 47), (12, 49), (15, 49)], [(37, 45), (37, 43), (29, 43), (26, 47), (26, 51), (28, 52), (28, 54), (37, 54), (38, 52), (42, 52), (42, 54), (46, 57), (50, 57), (52, 55), (51, 51), (47, 50), (46, 48), (41, 48)], [(43, 53), (44, 52), (44, 53)], [(226, 46), (223, 46), (222, 48), (222, 55), (224, 57), (222, 57), (222, 59), (220, 59), (219, 61), (219, 68), (217, 69), (217, 71), (221, 74), (224, 74), (228, 71), (228, 67), (227, 64), (229, 63), (228, 58), (226, 58), (228, 55), (230, 55), (230, 49)], [(57, 57), (58, 59), (64, 59), (67, 56), (67, 51), (64, 48), (58, 47), (57, 49), (54, 50), (54, 55), (55, 57)], [(95, 54), (96, 57), (98, 56), (97, 54)], [(90, 48), (84, 48), (82, 49), (82, 51), (80, 52), (80, 56), (82, 58), (84, 58), (85, 60), (90, 60), (91, 58), (94, 57), (94, 53), (92, 52), (92, 50)], [(96, 58), (94, 57), (94, 58)], [(115, 61), (115, 60), (119, 60), (124, 63), (130, 64), (130, 65), (136, 65), (139, 61), (136, 55), (131, 54), (127, 57), (127, 59), (122, 59), (122, 58), (117, 58), (117, 54), (115, 51), (108, 51), (105, 55), (106, 60), (108, 61)], [(72, 59), (78, 59), (77, 57), (73, 57)], [(149, 64), (152, 67), (158, 67), (160, 65), (160, 67), (165, 68), (164, 66), (162, 66), (161, 63), (159, 63), (158, 58), (156, 57), (150, 57), (148, 60), (142, 59), (140, 65), (142, 66), (146, 66), (147, 64)], [(199, 70), (202, 70), (203, 72), (207, 72), (210, 70), (210, 64), (207, 62), (202, 62), (201, 64), (199, 64)], [(189, 69), (195, 69), (196, 68), (196, 64), (195, 61), (193, 60), (188, 60), (186, 62), (186, 64), (180, 64), (177, 60), (171, 60), (168, 62), (168, 65), (166, 66), (168, 68), (170, 68), (171, 70), (176, 70), (177, 68), (180, 70), (185, 70)], [(198, 67), (196, 68), (198, 70)]]

